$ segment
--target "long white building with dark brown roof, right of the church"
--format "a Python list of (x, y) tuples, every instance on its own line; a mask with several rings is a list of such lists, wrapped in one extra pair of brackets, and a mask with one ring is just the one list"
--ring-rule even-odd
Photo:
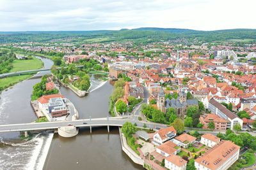
[(239, 124), (241, 127), (243, 127), (243, 120), (241, 118), (237, 117), (234, 113), (232, 113), (230, 110), (228, 110), (225, 106), (218, 103), (218, 101), (215, 101), (214, 99), (211, 99), (209, 101), (209, 108), (212, 113), (218, 115), (221, 118), (224, 118), (225, 120), (228, 120), (227, 128), (230, 128), (233, 130), (234, 125)]

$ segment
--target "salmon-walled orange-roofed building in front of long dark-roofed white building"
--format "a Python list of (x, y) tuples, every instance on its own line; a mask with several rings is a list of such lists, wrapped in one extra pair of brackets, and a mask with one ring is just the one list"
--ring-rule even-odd
[(209, 122), (214, 122), (215, 130), (218, 131), (226, 131), (227, 130), (227, 124), (229, 123), (228, 120), (225, 120), (224, 118), (220, 118), (218, 115), (215, 114), (207, 114), (202, 115), (199, 118), (200, 123), (203, 124), (203, 129), (208, 129)]

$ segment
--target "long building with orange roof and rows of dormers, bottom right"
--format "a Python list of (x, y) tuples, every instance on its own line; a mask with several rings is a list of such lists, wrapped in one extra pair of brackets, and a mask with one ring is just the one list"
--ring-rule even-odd
[(197, 170), (226, 170), (239, 158), (240, 146), (231, 141), (221, 141), (195, 160)]

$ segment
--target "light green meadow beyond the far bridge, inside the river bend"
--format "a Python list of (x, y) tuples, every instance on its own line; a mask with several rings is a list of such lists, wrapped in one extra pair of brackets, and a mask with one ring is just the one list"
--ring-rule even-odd
[(10, 72), (26, 71), (31, 69), (40, 69), (43, 66), (43, 62), (35, 57), (33, 60), (14, 60), (12, 62), (13, 68)]

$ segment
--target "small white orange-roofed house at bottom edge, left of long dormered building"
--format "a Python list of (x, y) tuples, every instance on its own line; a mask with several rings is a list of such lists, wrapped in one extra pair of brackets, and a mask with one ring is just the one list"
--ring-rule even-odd
[(168, 169), (186, 170), (187, 161), (177, 155), (170, 155), (164, 159), (164, 166)]

